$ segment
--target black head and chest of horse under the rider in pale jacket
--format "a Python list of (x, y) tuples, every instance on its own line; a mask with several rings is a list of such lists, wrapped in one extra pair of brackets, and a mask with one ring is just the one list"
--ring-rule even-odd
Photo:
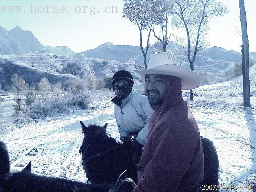
[(137, 180), (136, 167), (132, 165), (128, 149), (106, 133), (104, 126), (80, 121), (84, 139), (80, 148), (82, 165), (86, 177), (92, 183), (113, 183), (118, 176), (128, 170), (128, 177)]

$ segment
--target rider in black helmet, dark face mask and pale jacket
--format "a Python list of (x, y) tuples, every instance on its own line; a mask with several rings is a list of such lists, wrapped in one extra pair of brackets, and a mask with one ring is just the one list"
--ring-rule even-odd
[[(115, 104), (120, 140), (131, 146), (132, 162), (137, 166), (148, 134), (148, 123), (153, 109), (146, 96), (132, 91), (133, 77), (130, 72), (117, 71), (112, 78), (112, 86), (116, 94), (112, 102)], [(132, 136), (135, 139), (131, 141)]]

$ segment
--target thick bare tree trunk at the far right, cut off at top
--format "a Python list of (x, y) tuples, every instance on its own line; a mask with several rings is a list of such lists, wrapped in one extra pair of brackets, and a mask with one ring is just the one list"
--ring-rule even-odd
[(244, 8), (244, 0), (239, 0), (240, 21), (242, 27), (242, 72), (243, 72), (243, 91), (244, 91), (244, 107), (251, 107), (250, 100), (250, 77), (249, 77), (249, 41), (247, 35), (246, 12)]

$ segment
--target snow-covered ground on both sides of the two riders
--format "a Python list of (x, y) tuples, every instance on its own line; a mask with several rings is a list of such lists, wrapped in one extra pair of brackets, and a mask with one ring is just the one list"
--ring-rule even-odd
[[(235, 187), (232, 191), (256, 191), (256, 109), (239, 106), (243, 101), (239, 95), (242, 90), (235, 88), (236, 97), (230, 97), (232, 95), (229, 92), (232, 90), (234, 87), (230, 82), (200, 86), (195, 89), (198, 93), (194, 98), (195, 103), (188, 102), (188, 105), (195, 116), (201, 136), (212, 140), (216, 145), (220, 185), (226, 188), (221, 191), (228, 191), (230, 185)], [(1, 121), (4, 126), (9, 127), (14, 118), (14, 101), (10, 100), (10, 96), (1, 97), (5, 99)], [(196, 103), (200, 100), (204, 102)], [(215, 100), (216, 105), (224, 105), (204, 105), (207, 100)], [(251, 98), (251, 103), (252, 107), (256, 106), (256, 97)], [(32, 161), (32, 171), (37, 174), (86, 181), (79, 154), (83, 140), (79, 121), (83, 121), (85, 125), (108, 123), (107, 131), (112, 137), (119, 139), (114, 105), (110, 99), (94, 102), (91, 107), (51, 117), (48, 121), (20, 125), (0, 135), (0, 140), (8, 147), (12, 171), (20, 171)], [(241, 184), (254, 185), (254, 189), (238, 189)]]

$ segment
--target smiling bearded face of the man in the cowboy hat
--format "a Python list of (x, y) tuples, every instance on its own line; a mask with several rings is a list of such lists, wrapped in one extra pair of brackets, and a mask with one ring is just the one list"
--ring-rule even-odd
[(164, 101), (164, 96), (168, 92), (168, 86), (164, 82), (164, 76), (158, 74), (148, 74), (145, 77), (145, 91), (151, 105), (159, 105)]

